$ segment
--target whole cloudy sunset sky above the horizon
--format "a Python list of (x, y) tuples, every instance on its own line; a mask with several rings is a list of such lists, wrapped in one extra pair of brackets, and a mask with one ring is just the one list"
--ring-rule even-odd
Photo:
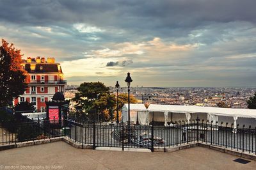
[(0, 0), (0, 38), (68, 84), (256, 85), (255, 0)]

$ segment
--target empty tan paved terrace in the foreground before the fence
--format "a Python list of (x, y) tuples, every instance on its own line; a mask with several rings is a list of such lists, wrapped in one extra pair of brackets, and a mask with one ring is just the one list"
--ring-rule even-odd
[(255, 169), (256, 161), (195, 147), (172, 153), (76, 149), (64, 142), (0, 151), (0, 169)]

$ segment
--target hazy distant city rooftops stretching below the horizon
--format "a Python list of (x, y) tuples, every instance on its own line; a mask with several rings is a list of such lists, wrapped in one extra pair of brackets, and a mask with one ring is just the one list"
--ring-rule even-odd
[[(65, 97), (72, 99), (78, 86), (68, 85)], [(110, 87), (116, 93), (114, 87)], [(138, 103), (196, 105), (218, 107), (219, 102), (225, 102), (227, 107), (247, 109), (247, 101), (254, 95), (256, 88), (143, 88), (131, 87), (131, 94)], [(127, 93), (127, 88), (120, 88), (120, 93)], [(143, 98), (143, 95), (150, 97)], [(74, 105), (74, 104), (73, 104)]]

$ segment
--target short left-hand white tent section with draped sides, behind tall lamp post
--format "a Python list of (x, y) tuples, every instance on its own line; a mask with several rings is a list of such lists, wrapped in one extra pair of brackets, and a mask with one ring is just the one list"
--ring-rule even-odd
[[(138, 115), (138, 121), (140, 125), (145, 125), (147, 123), (147, 108), (144, 104), (130, 104), (130, 120), (136, 123)], [(128, 121), (128, 104), (124, 104), (122, 107), (122, 117), (123, 122)]]

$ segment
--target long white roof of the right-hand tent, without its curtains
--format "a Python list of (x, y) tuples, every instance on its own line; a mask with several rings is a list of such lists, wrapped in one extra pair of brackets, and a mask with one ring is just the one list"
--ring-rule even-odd
[(244, 118), (256, 118), (256, 109), (232, 109), (221, 107), (200, 107), (194, 105), (156, 105), (150, 104), (148, 111), (151, 112), (177, 112), (177, 113), (199, 113), (205, 112), (219, 116), (237, 116)]

